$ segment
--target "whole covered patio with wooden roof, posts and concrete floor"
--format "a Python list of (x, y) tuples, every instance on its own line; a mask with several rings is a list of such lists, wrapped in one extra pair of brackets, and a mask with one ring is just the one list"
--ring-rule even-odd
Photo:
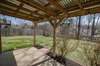
[[(0, 1), (0, 14), (30, 20), (33, 22), (34, 26), (33, 47), (31, 48), (18, 49), (11, 52), (2, 53), (2, 38), (0, 34), (0, 66), (7, 66), (8, 64), (8, 66), (42, 66), (42, 64), (46, 62), (47, 64), (43, 66), (48, 66), (48, 63), (50, 62), (51, 66), (82, 66), (77, 62), (66, 59), (63, 54), (56, 54), (57, 27), (60, 26), (64, 19), (96, 13), (100, 13), (100, 0)], [(36, 43), (36, 28), (38, 23), (42, 23), (44, 21), (48, 21), (53, 27), (53, 44), (50, 49), (38, 46)], [(0, 28), (1, 25), (7, 24), (0, 23)], [(81, 21), (79, 19), (77, 37), (75, 38), (76, 40), (80, 40), (80, 25)], [(94, 31), (92, 34), (94, 34)], [(11, 60), (5, 61), (8, 58), (7, 55), (8, 57), (13, 57), (15, 62), (12, 61), (11, 58)], [(55, 62), (56, 64), (52, 62)]]

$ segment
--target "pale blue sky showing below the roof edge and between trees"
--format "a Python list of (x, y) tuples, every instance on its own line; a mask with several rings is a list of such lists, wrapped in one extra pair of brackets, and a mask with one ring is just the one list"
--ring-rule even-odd
[[(82, 24), (88, 24), (87, 16), (88, 15), (85, 15), (85, 16), (81, 17), (81, 21), (82, 21), (81, 23)], [(98, 20), (98, 17), (100, 17), (100, 13), (96, 14), (95, 21)], [(22, 24), (25, 24), (25, 23), (27, 23), (28, 25), (32, 25), (32, 22), (29, 21), (29, 20), (24, 20), (24, 19), (15, 18), (15, 17), (11, 17), (11, 16), (5, 16), (5, 15), (0, 14), (0, 19), (3, 19), (3, 18), (5, 18), (6, 20), (11, 21), (11, 24), (15, 24), (15, 25), (22, 25)], [(76, 19), (76, 17), (72, 17), (72, 18)], [(100, 22), (100, 19), (99, 19), (99, 22)]]

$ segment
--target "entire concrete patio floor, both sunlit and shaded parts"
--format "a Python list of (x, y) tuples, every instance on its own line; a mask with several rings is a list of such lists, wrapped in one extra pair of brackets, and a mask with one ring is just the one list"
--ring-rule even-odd
[[(47, 48), (37, 49), (35, 47), (22, 48), (2, 53), (0, 55), (0, 66), (64, 66), (50, 58)], [(81, 66), (80, 64), (66, 59), (67, 66)]]

